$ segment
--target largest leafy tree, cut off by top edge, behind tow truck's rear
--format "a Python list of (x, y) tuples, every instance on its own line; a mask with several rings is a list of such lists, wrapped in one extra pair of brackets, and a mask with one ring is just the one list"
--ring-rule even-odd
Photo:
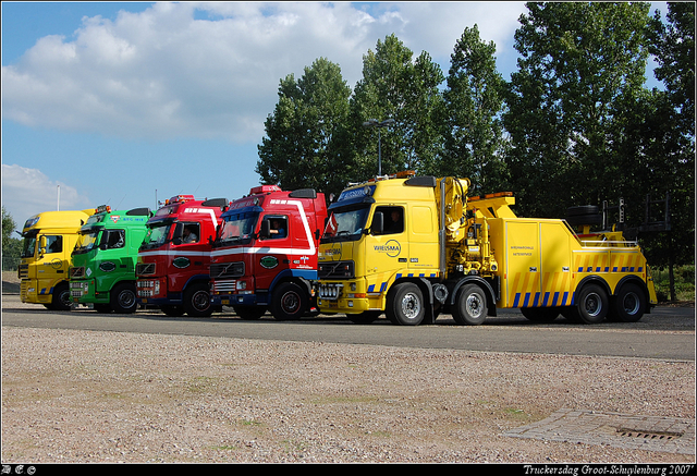
[[(526, 3), (506, 98), (509, 157), (523, 213), (600, 205), (646, 174), (621, 157), (626, 107), (640, 96), (648, 3)], [(622, 182), (619, 186), (617, 182)]]

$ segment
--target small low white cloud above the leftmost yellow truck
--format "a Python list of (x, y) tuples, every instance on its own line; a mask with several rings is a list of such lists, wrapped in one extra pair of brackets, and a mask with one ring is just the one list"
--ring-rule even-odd
[[(60, 186), (60, 204), (59, 204)], [(2, 164), (2, 206), (12, 215), (17, 228), (42, 211), (86, 209), (94, 205), (77, 190), (63, 182), (54, 182), (37, 169)]]

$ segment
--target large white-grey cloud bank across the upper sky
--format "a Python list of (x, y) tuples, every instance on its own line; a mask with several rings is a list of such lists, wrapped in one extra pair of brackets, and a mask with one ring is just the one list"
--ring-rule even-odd
[[(364, 11), (365, 9), (365, 11)], [(372, 9), (371, 11), (368, 9)], [(319, 57), (350, 86), (391, 33), (445, 72), (466, 26), (511, 44), (523, 3), (156, 3), (114, 21), (84, 17), (2, 66), (3, 119), (125, 138), (259, 142), (281, 77)], [(206, 16), (205, 20), (198, 20)]]

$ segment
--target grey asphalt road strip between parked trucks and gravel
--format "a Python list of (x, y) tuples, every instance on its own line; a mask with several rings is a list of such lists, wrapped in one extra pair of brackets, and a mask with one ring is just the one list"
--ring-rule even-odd
[(328, 343), (454, 349), (488, 352), (571, 354), (695, 361), (695, 308), (656, 307), (639, 322), (575, 325), (563, 318), (534, 324), (517, 310), (500, 310), (482, 326), (462, 327), (450, 316), (435, 325), (393, 326), (384, 316), (370, 325), (355, 325), (344, 316), (308, 317), (281, 322), (270, 315), (256, 321), (232, 310), (211, 318), (171, 318), (158, 310), (105, 315), (87, 308), (51, 312), (24, 304), (17, 295), (2, 295), (2, 325), (50, 329), (206, 335), (236, 339), (316, 341)]

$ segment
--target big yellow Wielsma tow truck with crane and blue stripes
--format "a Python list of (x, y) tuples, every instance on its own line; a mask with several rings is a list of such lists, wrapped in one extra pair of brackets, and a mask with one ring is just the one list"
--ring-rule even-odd
[(536, 321), (597, 324), (637, 321), (657, 304), (637, 242), (614, 227), (518, 218), (512, 194), (468, 197), (468, 187), (409, 172), (345, 188), (318, 249), (320, 312), (416, 326), (441, 312), (480, 325), (519, 308)]

